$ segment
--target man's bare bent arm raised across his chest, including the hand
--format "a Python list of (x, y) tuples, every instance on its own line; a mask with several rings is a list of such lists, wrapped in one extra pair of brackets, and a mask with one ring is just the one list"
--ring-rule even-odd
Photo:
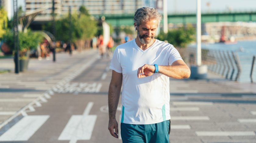
[[(154, 65), (143, 65), (138, 69), (138, 78), (151, 76), (155, 73)], [(170, 78), (182, 79), (190, 77), (190, 69), (182, 60), (177, 60), (171, 66), (158, 66), (158, 73), (166, 75)], [(141, 74), (141, 75), (140, 75)]]

